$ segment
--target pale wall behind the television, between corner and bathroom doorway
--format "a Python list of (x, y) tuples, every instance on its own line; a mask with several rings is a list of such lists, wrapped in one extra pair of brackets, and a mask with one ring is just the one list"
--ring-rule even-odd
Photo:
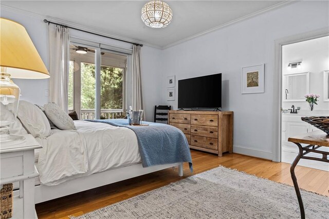
[[(223, 73), (224, 110), (234, 111), (233, 151), (272, 159), (275, 39), (328, 28), (328, 2), (301, 1), (247, 19), (163, 51), (162, 101), (166, 77)], [(265, 64), (265, 93), (241, 94), (241, 68)], [(177, 86), (176, 86), (177, 89)]]

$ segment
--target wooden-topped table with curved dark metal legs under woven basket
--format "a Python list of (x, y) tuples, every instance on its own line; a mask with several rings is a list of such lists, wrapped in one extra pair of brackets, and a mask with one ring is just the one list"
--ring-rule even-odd
[[(329, 152), (317, 150), (321, 147), (329, 147), (329, 135), (327, 135), (323, 131), (319, 130), (319, 131), (314, 131), (314, 132), (308, 132), (308, 133), (305, 133), (305, 134), (302, 134), (299, 136), (289, 137), (288, 142), (295, 143), (299, 149), (299, 153), (298, 153), (297, 157), (295, 158), (295, 161), (291, 164), (290, 174), (291, 174), (291, 178), (293, 180), (295, 191), (297, 194), (301, 218), (304, 219), (305, 218), (304, 205), (303, 205), (302, 196), (300, 194), (299, 187), (297, 184), (297, 178), (295, 175), (295, 167), (298, 164), (300, 159), (322, 161), (322, 162), (329, 163), (329, 160), (328, 160)], [(302, 146), (301, 144), (307, 144), (307, 145)], [(321, 154), (322, 158), (305, 156), (306, 154), (308, 154), (310, 152)]]

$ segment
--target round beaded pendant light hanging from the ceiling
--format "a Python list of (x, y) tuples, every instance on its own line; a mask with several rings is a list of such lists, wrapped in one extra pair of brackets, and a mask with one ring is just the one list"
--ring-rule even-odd
[(142, 21), (148, 27), (167, 27), (173, 17), (173, 11), (169, 5), (162, 1), (151, 1), (142, 8)]

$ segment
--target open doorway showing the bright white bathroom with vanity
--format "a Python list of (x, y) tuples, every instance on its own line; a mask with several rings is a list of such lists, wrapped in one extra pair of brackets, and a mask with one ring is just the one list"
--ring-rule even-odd
[[(287, 141), (288, 137), (318, 130), (301, 121), (301, 117), (329, 115), (329, 36), (283, 45), (281, 63), (281, 162), (291, 164), (298, 148)], [(306, 94), (318, 96), (312, 110)], [(309, 156), (321, 158), (316, 153)], [(302, 159), (299, 165), (329, 171), (328, 163)]]

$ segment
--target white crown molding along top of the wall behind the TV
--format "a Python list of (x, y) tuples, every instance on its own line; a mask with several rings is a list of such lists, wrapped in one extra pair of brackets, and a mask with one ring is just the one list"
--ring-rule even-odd
[(205, 30), (203, 32), (200, 32), (200, 33), (197, 33), (197, 34), (194, 34), (192, 36), (189, 36), (189, 37), (186, 37), (186, 38), (183, 38), (183, 39), (180, 39), (179, 41), (176, 41), (174, 43), (171, 43), (171, 44), (168, 44), (166, 46), (163, 46), (161, 47), (162, 49), (168, 49), (172, 46), (175, 46), (175, 45), (178, 45), (178, 44), (181, 44), (181, 43), (184, 43), (184, 42), (187, 42), (187, 41), (190, 41), (191, 39), (193, 38), (196, 38), (198, 36), (202, 36), (202, 35), (205, 35), (207, 33), (211, 33), (211, 32), (214, 32), (216, 30), (219, 30), (219, 29), (222, 29), (222, 28), (225, 28), (227, 26), (230, 26), (232, 24), (236, 24), (236, 23), (239, 23), (239, 22), (242, 22), (242, 21), (245, 21), (247, 19), (250, 19), (252, 17), (255, 17), (255, 16), (258, 16), (258, 15), (261, 15), (261, 14), (265, 14), (269, 11), (273, 11), (273, 10), (276, 10), (276, 9), (279, 9), (279, 8), (282, 8), (286, 5), (289, 5), (289, 4), (293, 4), (293, 3), (296, 3), (296, 2), (300, 2), (300, 0), (286, 0), (284, 2), (281, 2), (281, 3), (278, 3), (278, 4), (275, 4), (275, 5), (272, 5), (270, 7), (267, 7), (267, 8), (264, 8), (262, 10), (259, 10), (259, 11), (256, 11), (256, 12), (253, 12), (251, 14), (248, 14), (248, 15), (245, 15), (243, 17), (240, 17), (240, 18), (237, 18), (233, 21), (230, 21), (230, 22), (227, 22), (225, 24), (222, 24), (222, 25), (219, 25), (217, 27), (214, 27), (214, 28), (211, 28), (211, 29), (208, 29), (208, 30)]

